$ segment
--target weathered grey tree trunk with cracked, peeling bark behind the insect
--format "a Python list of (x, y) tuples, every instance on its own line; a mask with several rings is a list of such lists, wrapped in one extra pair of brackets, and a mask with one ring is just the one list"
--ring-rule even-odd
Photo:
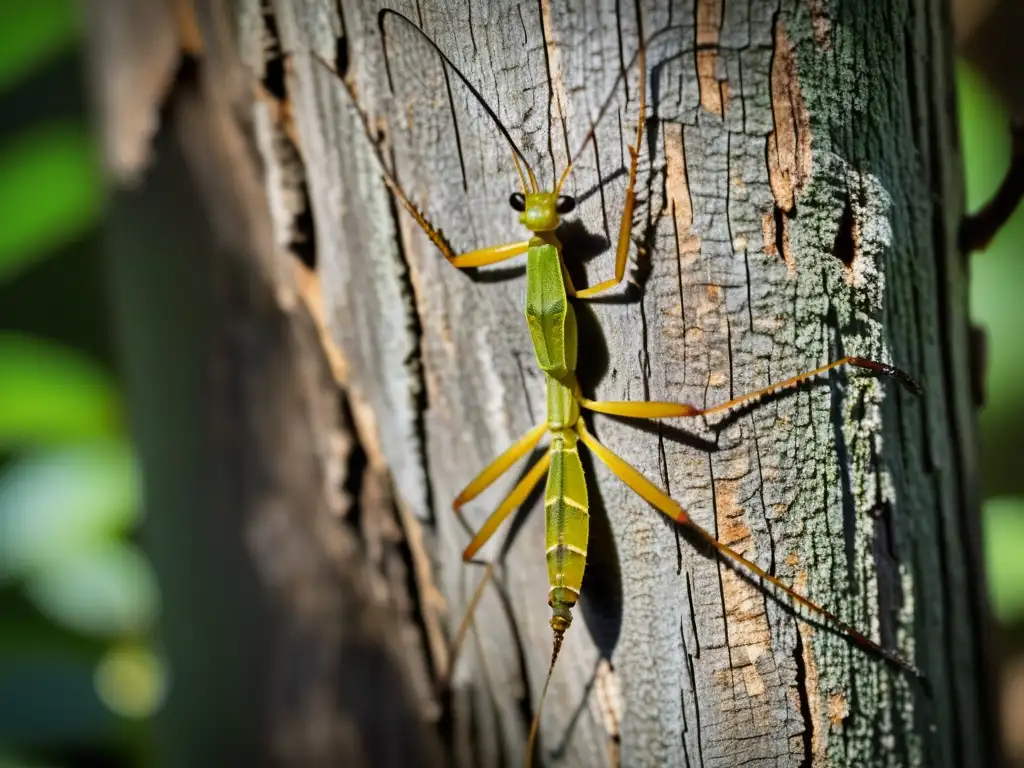
[[(347, 65), (398, 179), (459, 250), (522, 238), (507, 207), (518, 188), (510, 153), (467, 89), (393, 18), (385, 60), (376, 3), (240, 0), (232, 18), (221, 15), (226, 4), (196, 5), (204, 125), (234, 143), (195, 152), (208, 134), (181, 122), (176, 135), (220, 242), (234, 244), (215, 262), (229, 265), (218, 283), (236, 296), (249, 285), (257, 314), (287, 329), (265, 340), (266, 325), (247, 323), (247, 344), (264, 353), (220, 361), (231, 380), (257, 382), (238, 420), (261, 436), (212, 438), (239, 452), (220, 467), (246, 492), (237, 532), (286, 625), (305, 628), (321, 652), (337, 653), (351, 633), (383, 648), (332, 657), (326, 687), (310, 670), (292, 690), (267, 686), (272, 712), (293, 726), (284, 729), (292, 751), (276, 754), (351, 765), (345, 750), (358, 745), (367, 764), (413, 764), (372, 748), (400, 750), (404, 727), (423, 734), (413, 754), (427, 750), (439, 703), (454, 761), (518, 764), (551, 647), (536, 499), (509, 546), (484, 550), (503, 566), (454, 695), (436, 701), (424, 682), (445, 668), (444, 631), (479, 578), (461, 562), (468, 538), (451, 500), (545, 413), (522, 270), (474, 275), (444, 262), (389, 196), (348, 94), (309, 53)], [(647, 51), (632, 275), (643, 290), (578, 306), (589, 395), (710, 406), (843, 354), (891, 360), (925, 387), (916, 398), (841, 374), (718, 429), (594, 421), (698, 524), (911, 657), (924, 682), (796, 618), (590, 461), (588, 575), (545, 709), (543, 762), (993, 765), (945, 4), (399, 6), (476, 85), (542, 179), (564, 167), (564, 144), (580, 144), (614, 91), (567, 185), (580, 201), (563, 240), (578, 286), (608, 276), (614, 258), (601, 246), (617, 236), (638, 73), (616, 78), (642, 35), (674, 30)], [(219, 210), (225, 200), (237, 202), (233, 216), (230, 205)], [(231, 304), (220, 311), (220, 329), (251, 319)], [(287, 355), (265, 354), (273, 339)], [(315, 373), (324, 365), (340, 409)], [(285, 408), (295, 398), (308, 408)], [(474, 524), (514, 479), (468, 508)], [(342, 498), (346, 489), (361, 493)], [(319, 612), (303, 609), (301, 580), (282, 578), (295, 572), (282, 563), (296, 565), (261, 538), (268, 526), (323, 562), (307, 573)], [(375, 618), (339, 607), (349, 598)], [(278, 679), (303, 649), (283, 634)], [(283, 706), (332, 687), (336, 710)], [(399, 703), (413, 689), (419, 725)], [(335, 738), (334, 752), (316, 752), (313, 731)]]

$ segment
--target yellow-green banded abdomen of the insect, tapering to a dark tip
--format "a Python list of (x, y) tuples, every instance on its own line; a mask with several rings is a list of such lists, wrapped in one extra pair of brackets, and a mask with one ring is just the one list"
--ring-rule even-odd
[(587, 565), (590, 535), (587, 481), (577, 450), (577, 435), (565, 430), (552, 436), (551, 468), (544, 494), (546, 512), (548, 579), (551, 591), (551, 626), (564, 631), (572, 621)]

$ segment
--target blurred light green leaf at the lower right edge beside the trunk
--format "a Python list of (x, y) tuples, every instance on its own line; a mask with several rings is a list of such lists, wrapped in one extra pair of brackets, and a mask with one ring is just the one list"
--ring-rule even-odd
[(1020, 621), (1024, 618), (1024, 499), (989, 499), (982, 521), (995, 615), (1004, 623)]

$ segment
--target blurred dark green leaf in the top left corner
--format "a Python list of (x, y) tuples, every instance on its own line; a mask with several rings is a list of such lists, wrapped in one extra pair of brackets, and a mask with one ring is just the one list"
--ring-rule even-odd
[(70, 49), (79, 23), (71, 0), (0, 3), (0, 93)]

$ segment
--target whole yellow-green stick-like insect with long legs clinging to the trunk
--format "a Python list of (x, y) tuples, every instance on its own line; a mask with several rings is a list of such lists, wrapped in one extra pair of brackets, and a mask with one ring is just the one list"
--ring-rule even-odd
[[(846, 356), (763, 389), (734, 397), (713, 408), (697, 408), (685, 402), (667, 401), (600, 401), (584, 396), (575, 378), (579, 351), (577, 344), (577, 322), (575, 313), (569, 299), (584, 300), (600, 296), (620, 286), (626, 275), (635, 202), (637, 153), (643, 139), (643, 119), (646, 108), (646, 45), (654, 37), (668, 30), (656, 33), (649, 40), (642, 42), (630, 65), (624, 68), (624, 71), (620, 75), (620, 78), (625, 77), (634, 63), (638, 63), (640, 67), (639, 114), (637, 117), (636, 138), (633, 145), (629, 146), (629, 181), (626, 190), (626, 203), (620, 221), (618, 239), (615, 246), (614, 276), (600, 282), (591, 288), (577, 290), (566, 270), (562, 245), (556, 234), (561, 217), (570, 213), (575, 207), (573, 198), (562, 195), (562, 186), (572, 169), (573, 162), (580, 157), (581, 153), (586, 148), (588, 141), (593, 137), (597, 122), (600, 121), (610, 104), (611, 96), (609, 95), (608, 99), (602, 104), (597, 120), (584, 139), (580, 151), (570, 157), (568, 164), (554, 186), (546, 189), (539, 184), (537, 176), (532, 168), (530, 168), (529, 163), (523, 157), (522, 152), (516, 145), (511, 135), (509, 135), (504, 125), (502, 125), (498, 116), (487, 105), (473, 85), (462, 75), (459, 69), (426, 33), (401, 13), (390, 9), (381, 10), (378, 15), (378, 24), (382, 39), (385, 40), (385, 46), (386, 36), (384, 25), (388, 16), (394, 16), (400, 23), (410, 26), (419, 33), (437, 52), (444, 65), (459, 77), (498, 126), (512, 150), (513, 162), (519, 174), (520, 191), (513, 193), (509, 198), (509, 203), (519, 213), (519, 221), (530, 233), (527, 240), (457, 254), (440, 233), (440, 230), (410, 200), (392, 172), (388, 170), (388, 165), (375, 140), (375, 132), (371, 127), (370, 119), (361, 108), (359, 108), (354, 89), (344, 77), (338, 75), (348, 90), (352, 103), (364, 123), (370, 143), (373, 145), (380, 163), (380, 172), (384, 183), (453, 266), (459, 268), (485, 266), (497, 264), (523, 253), (526, 254), (525, 313), (530, 338), (534, 342), (534, 350), (537, 354), (537, 361), (545, 374), (547, 383), (547, 418), (487, 465), (459, 494), (453, 507), (461, 516), (460, 510), (465, 504), (475, 499), (500, 477), (505, 475), (519, 459), (526, 456), (540, 443), (545, 434), (549, 436), (550, 443), (547, 452), (544, 453), (542, 458), (537, 461), (508, 496), (505, 497), (504, 501), (490, 514), (463, 552), (463, 560), (466, 562), (472, 561), (479, 549), (490, 539), (508, 516), (523, 504), (534, 488), (540, 483), (541, 479), (547, 476), (547, 485), (544, 493), (544, 510), (550, 583), (548, 604), (551, 607), (551, 629), (554, 634), (554, 640), (551, 663), (548, 668), (544, 688), (541, 692), (537, 713), (530, 727), (526, 757), (527, 765), (530, 764), (532, 757), (541, 711), (547, 695), (548, 685), (551, 682), (551, 675), (558, 659), (565, 631), (572, 623), (572, 607), (580, 597), (584, 568), (587, 564), (590, 518), (588, 513), (587, 481), (579, 454), (580, 442), (583, 442), (583, 444), (590, 449), (616, 477), (633, 488), (641, 498), (677, 524), (690, 530), (698, 540), (705, 542), (720, 555), (737, 563), (763, 582), (771, 584), (782, 594), (788, 596), (795, 603), (845, 633), (859, 646), (920, 676), (916, 669), (898, 654), (881, 647), (835, 613), (798, 594), (780, 580), (766, 572), (763, 568), (748, 560), (730, 547), (722, 544), (710, 532), (694, 523), (679, 503), (603, 445), (587, 428), (581, 416), (583, 411), (637, 419), (707, 417), (715, 414), (725, 414), (740, 406), (756, 402), (768, 395), (793, 389), (808, 379), (820, 376), (843, 366), (857, 367), (877, 374), (891, 376), (911, 391), (915, 393), (920, 393), (921, 391), (918, 384), (909, 376), (892, 366), (862, 357)], [(330, 65), (323, 61), (323, 59), (321, 61), (325, 67), (334, 72)], [(337, 75), (337, 73), (335, 74)], [(525, 168), (525, 173), (523, 172), (523, 168)], [(452, 665), (455, 664), (456, 650), (470, 626), (473, 611), (493, 573), (494, 564), (492, 563), (487, 565), (476, 593), (470, 601), (466, 615), (453, 640)], [(451, 673), (451, 668), (449, 672)]]

